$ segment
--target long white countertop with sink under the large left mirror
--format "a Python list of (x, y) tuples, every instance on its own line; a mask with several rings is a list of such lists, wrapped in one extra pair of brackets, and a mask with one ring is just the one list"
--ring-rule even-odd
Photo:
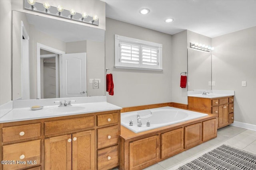
[(31, 110), (30, 107), (13, 108), (8, 113), (0, 117), (0, 123), (44, 119), (44, 118), (60, 117), (60, 116), (68, 116), (68, 115), (79, 115), (79, 114), (85, 114), (85, 113), (95, 113), (100, 111), (111, 111), (111, 110), (122, 109), (122, 107), (115, 106), (113, 104), (110, 104), (102, 100), (100, 102), (72, 104), (72, 106), (68, 106), (68, 107), (77, 107), (77, 106), (84, 107), (84, 108), (78, 111), (70, 111), (70, 112), (55, 112), (52, 109), (63, 108), (63, 107), (58, 107), (56, 105), (44, 106), (44, 108), (40, 110)]

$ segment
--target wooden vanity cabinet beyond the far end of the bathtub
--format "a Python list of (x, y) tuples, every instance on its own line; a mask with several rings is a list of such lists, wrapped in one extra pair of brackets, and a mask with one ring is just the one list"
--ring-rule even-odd
[(222, 98), (188, 96), (188, 109), (218, 115), (218, 129), (234, 122), (234, 96)]

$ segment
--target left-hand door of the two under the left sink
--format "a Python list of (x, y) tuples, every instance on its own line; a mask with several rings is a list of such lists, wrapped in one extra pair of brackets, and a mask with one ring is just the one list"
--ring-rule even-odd
[(50, 137), (44, 140), (46, 170), (71, 170), (71, 135)]

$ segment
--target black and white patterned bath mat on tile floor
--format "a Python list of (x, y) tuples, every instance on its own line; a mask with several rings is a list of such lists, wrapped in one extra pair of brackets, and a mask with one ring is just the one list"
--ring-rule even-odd
[(256, 170), (256, 155), (222, 145), (178, 170)]

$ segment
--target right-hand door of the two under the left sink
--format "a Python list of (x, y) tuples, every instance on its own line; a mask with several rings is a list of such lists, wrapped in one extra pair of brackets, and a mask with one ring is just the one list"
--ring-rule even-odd
[(94, 170), (95, 164), (94, 130), (72, 134), (72, 169)]

